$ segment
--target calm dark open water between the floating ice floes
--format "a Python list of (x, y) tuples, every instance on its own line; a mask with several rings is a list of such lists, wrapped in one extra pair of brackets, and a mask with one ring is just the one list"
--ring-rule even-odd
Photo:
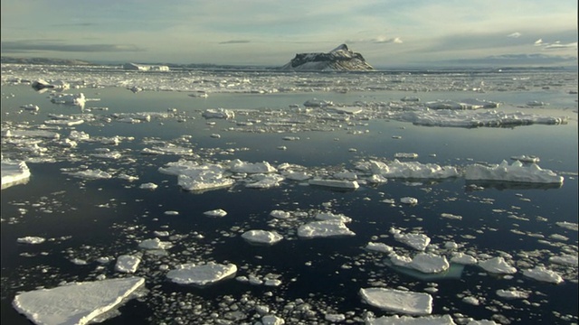
[[(551, 73), (556, 77), (556, 73)], [(517, 76), (515, 76), (517, 77)], [(545, 75), (540, 75), (546, 78)], [(556, 78), (553, 77), (554, 83)], [(436, 75), (429, 75), (435, 82)], [(441, 74), (441, 78), (449, 76)], [(485, 77), (492, 79), (491, 77)], [(503, 75), (501, 79), (509, 79)], [(532, 75), (528, 81), (533, 85)], [(576, 76), (575, 76), (576, 78)], [(543, 79), (542, 79), (543, 80)], [(431, 82), (431, 81), (429, 81)], [(573, 82), (565, 83), (565, 87)], [(574, 81), (576, 90), (576, 79)], [(107, 324), (142, 323), (252, 323), (259, 315), (251, 306), (267, 305), (286, 323), (324, 323), (324, 314), (341, 313), (346, 320), (359, 322), (368, 312), (387, 315), (358, 296), (369, 286), (404, 287), (415, 292), (425, 289), (434, 298), (432, 314), (460, 315), (476, 320), (512, 323), (555, 324), (577, 322), (577, 266), (549, 263), (553, 255), (577, 254), (577, 231), (557, 226), (557, 222), (577, 222), (577, 102), (567, 88), (509, 89), (486, 93), (469, 91), (411, 92), (375, 90), (336, 92), (282, 92), (277, 94), (215, 93), (208, 98), (190, 98), (178, 91), (142, 91), (126, 88), (81, 88), (89, 101), (85, 112), (107, 116), (116, 113), (166, 112), (176, 108), (181, 118), (152, 120), (148, 123), (93, 122), (56, 130), (62, 138), (71, 129), (90, 137), (129, 136), (117, 146), (81, 143), (65, 152), (52, 145), (48, 155), (54, 163), (30, 162), (31, 180), (2, 190), (2, 320), (25, 324), (28, 320), (11, 306), (14, 295), (37, 287), (52, 288), (62, 282), (93, 281), (100, 274), (107, 278), (124, 276), (114, 270), (114, 258), (122, 254), (142, 254), (136, 275), (147, 279), (148, 292), (120, 308)], [(78, 90), (78, 91), (77, 91)], [(50, 103), (47, 94), (29, 85), (2, 86), (3, 128), (24, 124), (34, 127), (49, 119), (49, 114), (81, 113), (78, 107)], [(331, 132), (297, 133), (243, 132), (230, 120), (205, 120), (206, 108), (252, 109), (262, 112), (288, 109), (311, 98), (351, 104), (356, 101), (396, 101), (416, 96), (422, 101), (436, 99), (480, 98), (505, 103), (507, 111), (523, 110), (546, 116), (569, 116), (565, 125), (525, 125), (513, 128), (425, 127), (394, 120), (365, 120), (349, 124), (336, 122)], [(525, 107), (531, 100), (548, 102), (547, 107)], [(35, 104), (38, 114), (20, 106)], [(236, 121), (243, 120), (237, 114)], [(214, 122), (214, 125), (207, 122)], [(8, 126), (8, 124), (11, 124)], [(356, 131), (356, 132), (353, 132)], [(220, 138), (210, 135), (219, 134)], [(185, 135), (185, 137), (184, 137)], [(287, 141), (285, 136), (298, 136)], [(393, 136), (400, 137), (394, 138)], [(157, 171), (178, 155), (143, 155), (150, 148), (144, 140), (179, 144), (213, 161), (240, 159), (249, 163), (296, 163), (312, 170), (354, 170), (361, 159), (394, 158), (394, 153), (418, 153), (421, 163), (464, 166), (474, 162), (500, 163), (513, 155), (534, 154), (539, 165), (565, 176), (563, 186), (482, 184), (472, 190), (462, 179), (444, 181), (395, 181), (355, 191), (327, 190), (283, 181), (267, 190), (246, 189), (236, 184), (231, 189), (191, 193), (181, 190), (176, 177)], [(287, 150), (278, 147), (284, 145)], [(50, 145), (49, 145), (50, 146)], [(95, 149), (107, 147), (122, 153), (118, 160), (91, 156)], [(353, 150), (356, 149), (356, 150)], [(25, 158), (14, 144), (3, 142), (4, 157)], [(67, 169), (91, 168), (127, 172), (139, 177), (128, 182), (116, 178), (86, 181), (66, 174)], [(154, 182), (157, 190), (142, 190), (139, 185)], [(399, 199), (418, 199), (416, 206), (399, 204)], [(394, 205), (384, 203), (393, 199)], [(224, 218), (207, 218), (204, 211), (224, 209)], [(355, 237), (299, 239), (299, 223), (280, 225), (269, 216), (275, 209), (291, 212), (327, 210), (353, 219), (348, 228)], [(166, 215), (175, 210), (178, 216)], [(441, 218), (441, 213), (459, 215), (461, 220)], [(303, 223), (303, 222), (301, 222)], [(275, 229), (285, 240), (274, 246), (252, 246), (241, 234), (250, 229)], [(511, 277), (484, 273), (467, 265), (460, 278), (420, 279), (384, 265), (385, 255), (365, 251), (370, 242), (394, 246), (399, 254), (413, 255), (410, 248), (394, 240), (390, 228), (418, 231), (432, 238), (439, 252), (447, 241), (461, 245), (457, 251), (492, 256), (510, 256), (517, 269), (547, 265), (562, 274), (565, 282), (541, 283), (520, 272)], [(174, 247), (168, 255), (152, 255), (138, 249), (138, 242), (155, 237), (154, 231), (166, 230)], [(199, 234), (203, 237), (198, 236)], [(553, 237), (556, 235), (555, 237)], [(41, 245), (18, 244), (26, 236), (45, 237)], [(559, 236), (559, 237), (557, 237)], [(566, 239), (561, 238), (563, 236)], [(109, 256), (109, 264), (96, 259)], [(86, 265), (71, 262), (86, 261)], [(236, 280), (195, 288), (169, 283), (161, 265), (214, 261), (238, 265), (237, 275), (276, 274), (278, 287), (252, 285)], [(498, 289), (515, 287), (530, 292), (526, 300), (505, 300)], [(428, 289), (430, 288), (430, 289)], [(464, 302), (475, 297), (479, 305)], [(298, 307), (292, 308), (294, 305)]]

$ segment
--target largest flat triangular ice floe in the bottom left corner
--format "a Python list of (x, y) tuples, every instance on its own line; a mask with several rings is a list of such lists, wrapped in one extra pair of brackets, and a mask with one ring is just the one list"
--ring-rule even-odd
[(13, 306), (35, 324), (87, 324), (118, 307), (144, 283), (141, 277), (68, 283), (18, 293)]

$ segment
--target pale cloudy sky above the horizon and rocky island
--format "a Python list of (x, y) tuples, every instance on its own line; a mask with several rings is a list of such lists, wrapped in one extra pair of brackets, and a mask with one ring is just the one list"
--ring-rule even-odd
[(2, 55), (283, 65), (346, 42), (375, 67), (576, 65), (575, 0), (2, 0)]

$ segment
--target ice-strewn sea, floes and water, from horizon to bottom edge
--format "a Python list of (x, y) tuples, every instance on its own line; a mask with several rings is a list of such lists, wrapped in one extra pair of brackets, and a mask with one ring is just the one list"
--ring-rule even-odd
[(1, 78), (3, 323), (579, 321), (576, 70)]

